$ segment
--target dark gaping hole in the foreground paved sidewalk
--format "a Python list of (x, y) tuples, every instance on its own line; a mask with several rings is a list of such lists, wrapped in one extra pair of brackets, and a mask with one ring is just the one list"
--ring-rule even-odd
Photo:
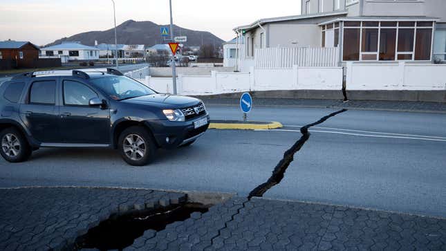
[(113, 215), (76, 239), (75, 250), (122, 250), (142, 236), (146, 230), (164, 230), (175, 221), (185, 221), (193, 212), (208, 211), (211, 205), (184, 203), (154, 210), (142, 210), (128, 215)]

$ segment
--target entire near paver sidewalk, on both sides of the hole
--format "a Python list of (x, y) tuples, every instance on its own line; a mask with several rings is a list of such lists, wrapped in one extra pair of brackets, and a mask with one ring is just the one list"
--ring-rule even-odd
[[(145, 189), (0, 189), (0, 250), (59, 250), (109, 218), (183, 203)], [(263, 198), (231, 198), (125, 250), (446, 250), (446, 220)]]

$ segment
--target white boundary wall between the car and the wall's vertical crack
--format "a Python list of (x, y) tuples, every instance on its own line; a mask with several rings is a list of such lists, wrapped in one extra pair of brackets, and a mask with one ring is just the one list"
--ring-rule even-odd
[[(145, 84), (160, 93), (171, 93), (170, 77), (146, 77)], [(341, 90), (342, 68), (297, 67), (255, 69), (248, 73), (178, 75), (177, 90), (182, 95), (212, 95), (242, 91)]]

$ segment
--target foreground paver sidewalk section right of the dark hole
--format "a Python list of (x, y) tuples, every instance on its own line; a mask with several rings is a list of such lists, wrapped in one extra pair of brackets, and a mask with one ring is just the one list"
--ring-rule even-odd
[(148, 230), (126, 250), (446, 250), (446, 220), (232, 198), (160, 232)]

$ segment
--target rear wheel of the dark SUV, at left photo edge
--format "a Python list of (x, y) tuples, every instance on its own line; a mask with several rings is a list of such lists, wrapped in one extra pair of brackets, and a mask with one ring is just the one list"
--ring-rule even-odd
[(8, 162), (22, 162), (30, 158), (31, 147), (23, 134), (15, 128), (0, 132), (0, 154)]

